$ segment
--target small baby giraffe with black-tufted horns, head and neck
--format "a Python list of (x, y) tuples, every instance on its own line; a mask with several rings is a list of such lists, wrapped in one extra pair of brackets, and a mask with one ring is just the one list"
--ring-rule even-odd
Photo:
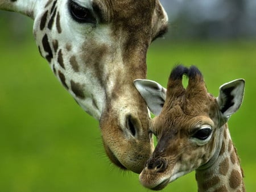
[[(183, 76), (188, 77), (187, 88)], [(143, 186), (161, 190), (196, 170), (198, 191), (245, 191), (227, 124), (242, 103), (244, 80), (222, 85), (214, 98), (199, 69), (178, 65), (171, 72), (167, 90), (150, 80), (135, 80), (134, 84), (148, 108), (158, 115), (151, 123), (158, 144), (139, 176)]]

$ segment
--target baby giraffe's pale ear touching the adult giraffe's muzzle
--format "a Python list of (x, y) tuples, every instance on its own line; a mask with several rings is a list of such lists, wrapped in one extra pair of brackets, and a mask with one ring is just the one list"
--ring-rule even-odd
[(166, 101), (166, 89), (151, 80), (134, 80), (134, 85), (146, 101), (150, 111), (154, 115), (159, 115)]

